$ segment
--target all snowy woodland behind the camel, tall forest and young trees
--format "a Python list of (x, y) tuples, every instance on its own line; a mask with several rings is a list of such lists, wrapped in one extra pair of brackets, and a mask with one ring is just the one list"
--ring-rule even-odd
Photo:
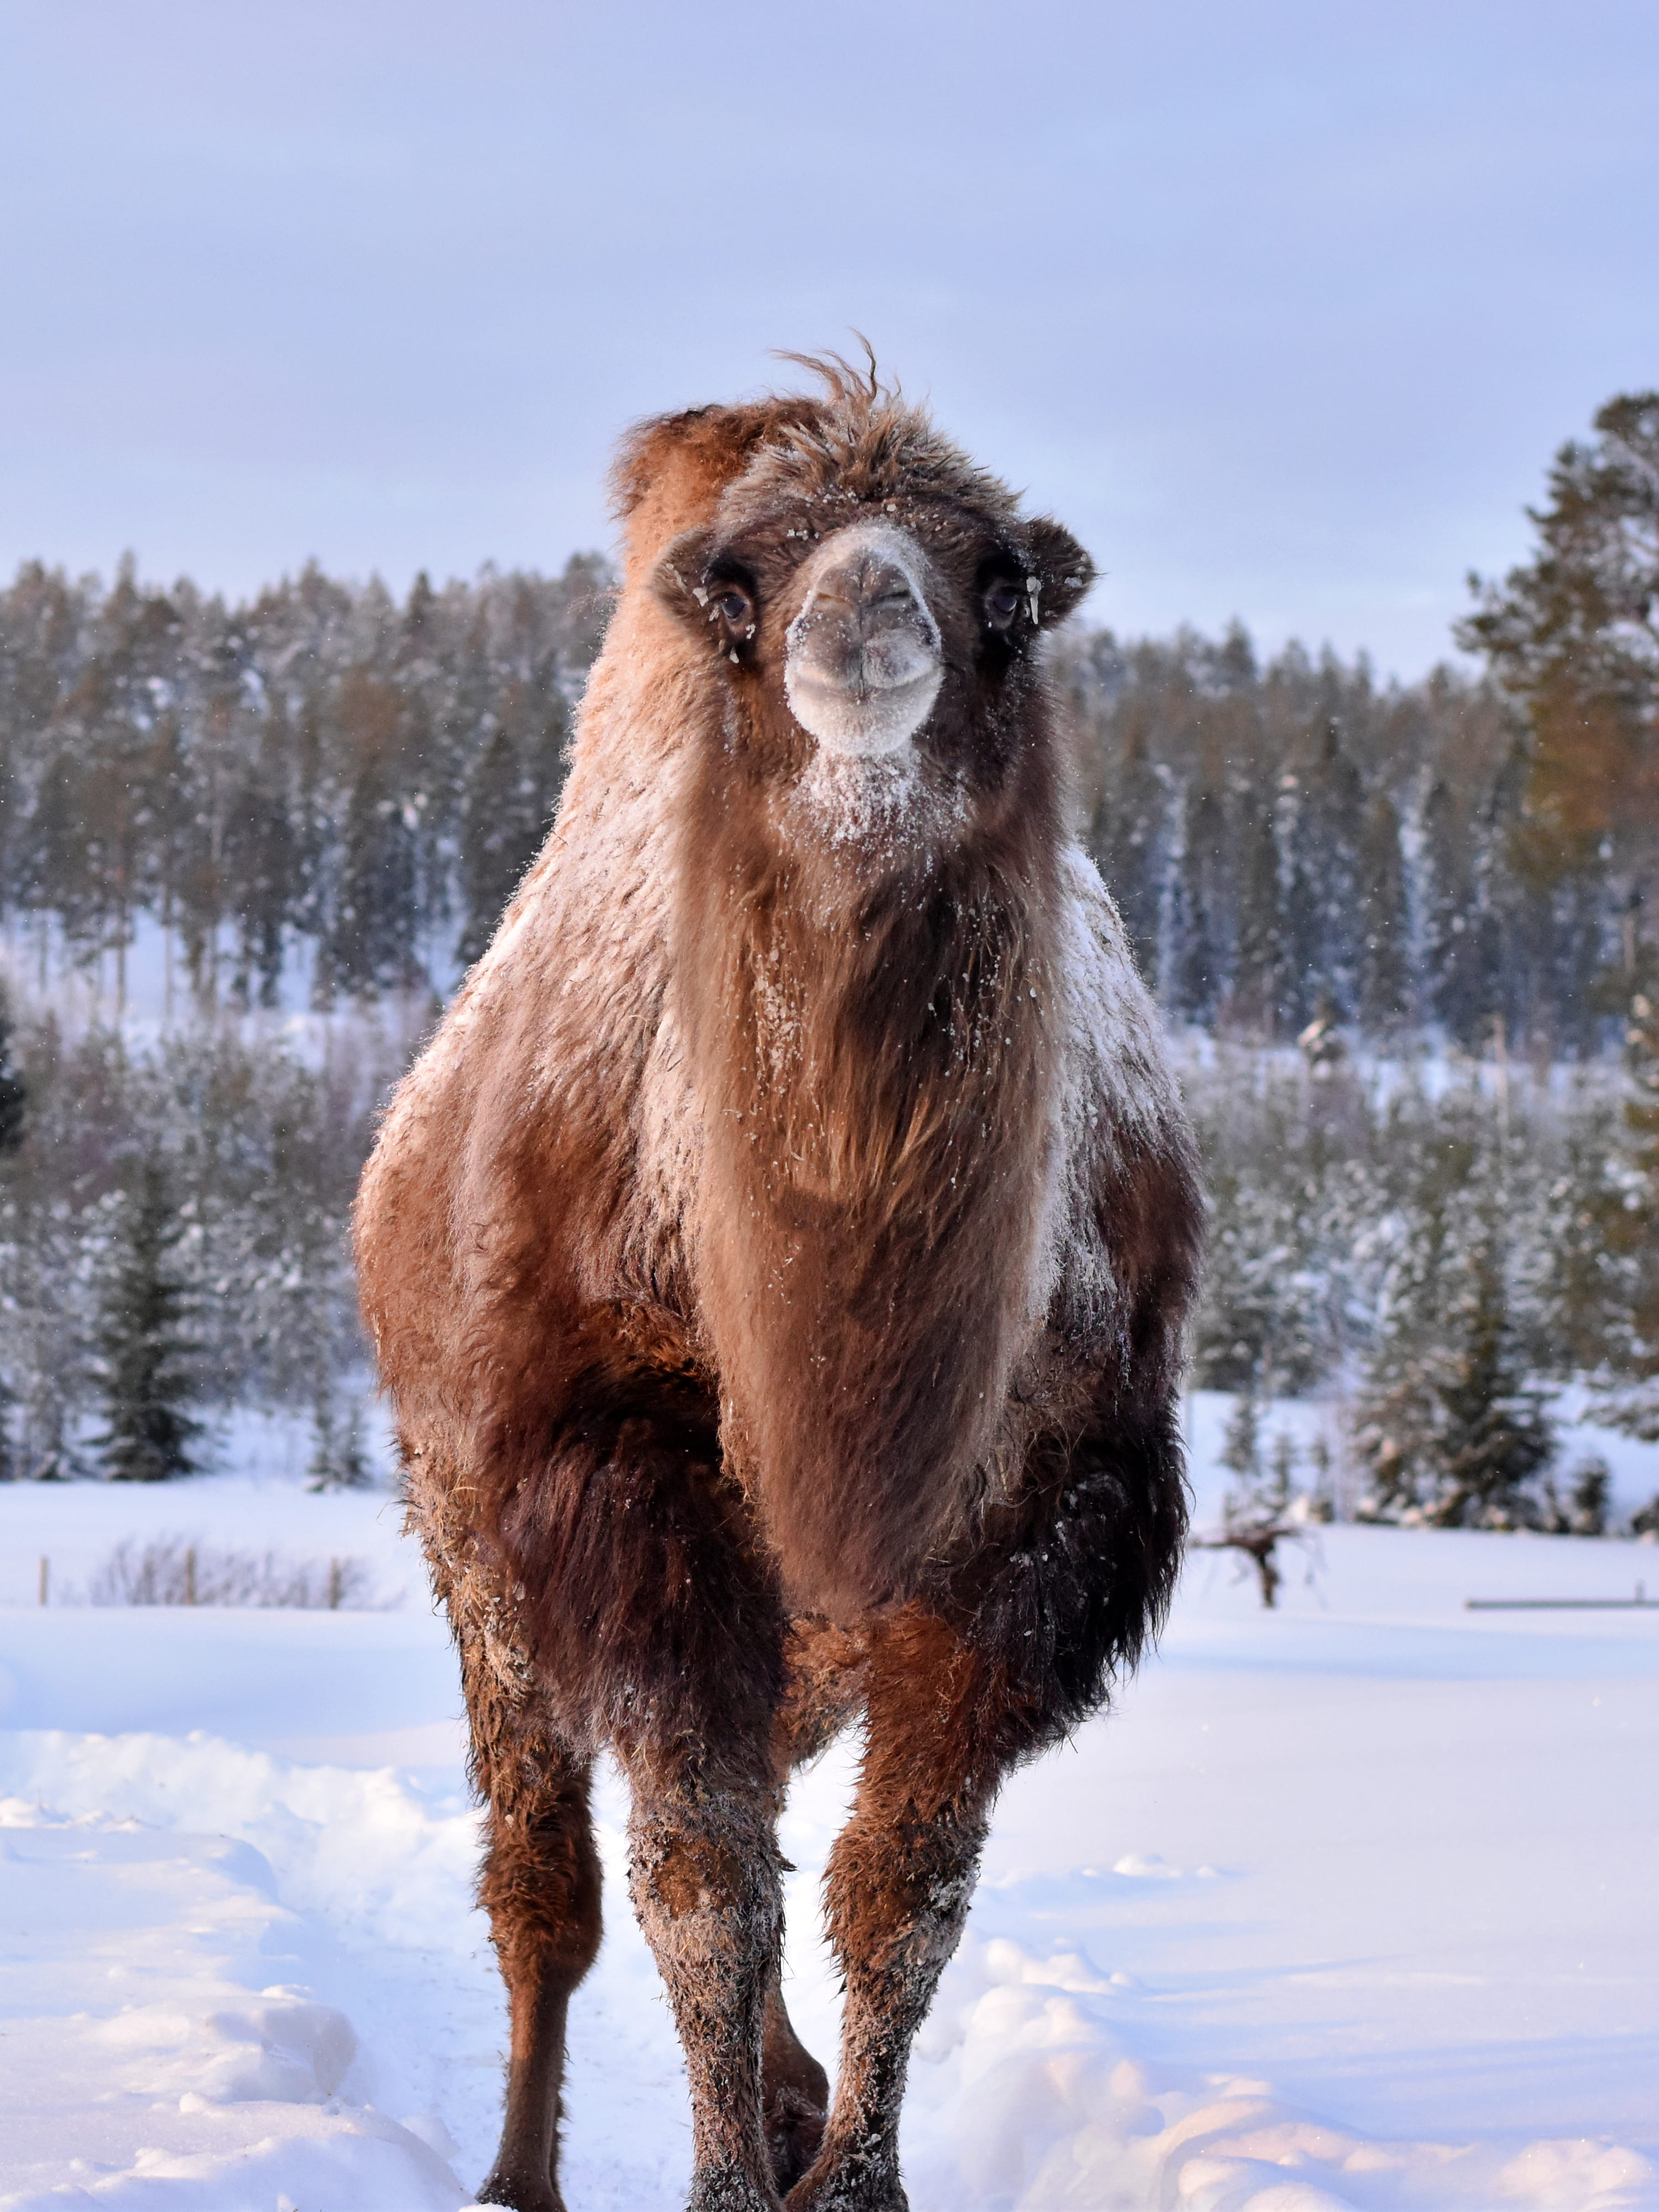
[[(1194, 1378), (1340, 1383), (1387, 1517), (1566, 1526), (1553, 1380), (1659, 1433), (1659, 396), (1546, 489), (1484, 672), (1057, 659), (1210, 1166)], [(310, 1407), (327, 1480), (374, 1110), (546, 834), (608, 591), (0, 593), (0, 1475), (188, 1471), (197, 1400)]]

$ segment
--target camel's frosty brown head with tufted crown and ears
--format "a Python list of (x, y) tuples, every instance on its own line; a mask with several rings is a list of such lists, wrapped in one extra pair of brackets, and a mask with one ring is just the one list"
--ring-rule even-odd
[[(732, 436), (712, 515), (668, 544), (653, 586), (723, 695), (721, 750), (785, 836), (931, 841), (995, 807), (1048, 741), (1037, 639), (1095, 571), (920, 409), (814, 367), (827, 398), (774, 403)], [(708, 440), (714, 414), (750, 416), (681, 420)]]

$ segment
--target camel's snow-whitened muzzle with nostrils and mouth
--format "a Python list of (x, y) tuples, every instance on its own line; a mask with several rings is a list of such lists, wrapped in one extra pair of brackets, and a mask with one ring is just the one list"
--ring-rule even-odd
[(805, 564), (783, 692), (825, 750), (902, 752), (933, 712), (945, 646), (929, 584), (938, 591), (922, 546), (883, 522), (836, 531)]

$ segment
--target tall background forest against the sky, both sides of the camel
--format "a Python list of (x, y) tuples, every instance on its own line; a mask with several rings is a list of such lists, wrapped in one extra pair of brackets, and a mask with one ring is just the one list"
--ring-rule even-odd
[[(1181, 633), (1073, 641), (1086, 834), (1166, 1011), (1584, 1055), (1617, 1037), (1659, 854), (1659, 396), (1568, 445), (1537, 557), (1478, 584), (1482, 677)], [(613, 577), (407, 599), (319, 568), (226, 606), (27, 566), (0, 593), (0, 922), (122, 958), (139, 916), (199, 1004), (445, 993), (564, 776)]]

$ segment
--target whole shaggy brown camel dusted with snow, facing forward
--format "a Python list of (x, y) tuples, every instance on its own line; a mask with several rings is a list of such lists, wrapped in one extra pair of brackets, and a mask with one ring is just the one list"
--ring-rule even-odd
[[(874, 363), (805, 365), (821, 394), (622, 445), (557, 818), (356, 1206), (487, 1809), (480, 2199), (518, 2212), (564, 2203), (602, 1752), (692, 2212), (905, 2205), (907, 2055), (998, 1785), (1135, 1666), (1186, 1531), (1199, 1179), (1044, 675), (1093, 568)], [(852, 1723), (830, 2099), (776, 1820)]]

